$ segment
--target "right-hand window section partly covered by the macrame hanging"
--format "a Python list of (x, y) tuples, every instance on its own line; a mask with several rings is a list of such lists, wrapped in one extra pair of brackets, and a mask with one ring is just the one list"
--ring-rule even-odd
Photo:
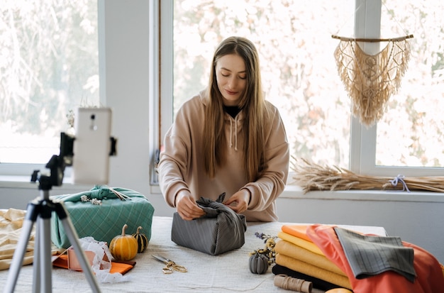
[(409, 68), (399, 92), (389, 99), (387, 112), (377, 126), (360, 127), (357, 145), (362, 148), (357, 149), (364, 155), (356, 170), (368, 175), (435, 176), (444, 172), (444, 137), (440, 129), (444, 121), (437, 110), (444, 106), (440, 21), (444, 6), (439, 1), (409, 2), (389, 1), (389, 7), (382, 5), (381, 31), (385, 37), (412, 33), (414, 38), (409, 40)]

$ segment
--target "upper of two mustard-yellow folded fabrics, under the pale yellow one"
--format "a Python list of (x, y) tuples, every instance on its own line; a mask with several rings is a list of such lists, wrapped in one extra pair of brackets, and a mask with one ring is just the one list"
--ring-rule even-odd
[(277, 241), (274, 246), (274, 250), (276, 253), (282, 253), (282, 255), (287, 255), (291, 258), (296, 258), (296, 260), (301, 260), (303, 262), (309, 263), (310, 265), (314, 265), (316, 267), (321, 267), (324, 270), (328, 270), (330, 272), (335, 272), (338, 275), (345, 275), (345, 272), (340, 270), (340, 268), (335, 265), (334, 262), (328, 260), (324, 255), (318, 255), (317, 253), (312, 253), (310, 250), (306, 250), (301, 246), (295, 245), (285, 240)]

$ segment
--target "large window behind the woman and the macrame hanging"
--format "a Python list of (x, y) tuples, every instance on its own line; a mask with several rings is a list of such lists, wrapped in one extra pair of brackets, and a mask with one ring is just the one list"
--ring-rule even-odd
[(264, 90), (284, 119), (292, 156), (368, 175), (443, 174), (440, 1), (383, 1), (379, 7), (384, 32), (414, 38), (401, 87), (372, 127), (351, 116), (351, 101), (333, 57), (338, 42), (331, 35), (353, 33), (355, 1), (165, 2), (169, 1), (161, 2), (161, 28), (167, 35), (162, 60), (173, 56), (164, 63), (173, 70), (162, 67), (162, 84), (174, 87), (172, 94), (161, 90), (162, 109), (173, 109), (162, 111), (162, 136), (179, 106), (206, 87), (216, 45), (229, 35), (243, 35), (260, 52)]

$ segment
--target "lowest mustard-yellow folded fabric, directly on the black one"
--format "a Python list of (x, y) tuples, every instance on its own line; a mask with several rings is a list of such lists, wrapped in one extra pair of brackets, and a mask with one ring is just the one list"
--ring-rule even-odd
[(291, 270), (295, 270), (296, 272), (301, 272), (305, 275), (316, 277), (326, 282), (336, 284), (340, 287), (352, 289), (348, 277), (336, 274), (335, 272), (324, 270), (321, 267), (316, 267), (315, 265), (310, 265), (309, 263), (303, 262), (301, 260), (296, 260), (296, 258), (291, 258), (287, 255), (277, 253), (276, 263), (278, 265), (288, 267)]

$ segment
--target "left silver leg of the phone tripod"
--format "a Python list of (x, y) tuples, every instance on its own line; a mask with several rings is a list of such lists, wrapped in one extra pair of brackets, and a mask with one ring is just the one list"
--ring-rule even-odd
[[(38, 209), (35, 202), (28, 204), (28, 209), (26, 211), (26, 219), (23, 221), (22, 232), (20, 238), (18, 239), (17, 249), (14, 252), (11, 266), (9, 267), (8, 280), (6, 280), (6, 287), (4, 292), (13, 292), (16, 288), (18, 274), (23, 265), (23, 257), (25, 256), (26, 246), (28, 246), (28, 241), (30, 238), (30, 233), (33, 230), (33, 224), (38, 216)], [(35, 253), (38, 253), (34, 250)]]

